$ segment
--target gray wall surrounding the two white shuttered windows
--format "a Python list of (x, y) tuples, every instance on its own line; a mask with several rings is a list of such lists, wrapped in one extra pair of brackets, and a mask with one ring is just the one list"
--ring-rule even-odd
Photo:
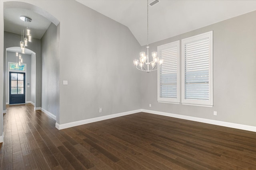
[(142, 108), (256, 126), (255, 17), (256, 11), (250, 12), (150, 44), (156, 50), (158, 45), (213, 30), (214, 106), (158, 103), (157, 72), (152, 72), (142, 76)]

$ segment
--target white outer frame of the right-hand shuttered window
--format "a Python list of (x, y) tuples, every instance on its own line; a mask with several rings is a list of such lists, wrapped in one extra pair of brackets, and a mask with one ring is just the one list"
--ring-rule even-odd
[[(197, 100), (197, 99), (185, 99), (185, 44), (200, 39), (209, 38), (209, 99)], [(182, 104), (193, 106), (213, 106), (213, 31), (195, 35), (181, 40), (181, 60), (182, 60)]]

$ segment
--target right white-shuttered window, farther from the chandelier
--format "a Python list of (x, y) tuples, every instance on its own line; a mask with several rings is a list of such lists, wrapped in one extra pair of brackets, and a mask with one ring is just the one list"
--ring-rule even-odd
[(212, 106), (212, 31), (181, 42), (182, 104)]

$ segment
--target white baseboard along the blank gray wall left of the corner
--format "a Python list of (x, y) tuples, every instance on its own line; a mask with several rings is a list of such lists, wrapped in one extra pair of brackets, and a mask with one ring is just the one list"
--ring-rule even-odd
[(74, 126), (79, 126), (79, 125), (84, 125), (87, 123), (93, 123), (96, 121), (102, 121), (102, 120), (106, 120), (106, 119), (112, 119), (115, 117), (120, 117), (120, 116), (124, 116), (124, 115), (130, 115), (130, 114), (134, 114), (134, 113), (138, 113), (141, 112), (141, 109), (138, 110), (132, 110), (132, 111), (126, 111), (126, 112), (122, 112), (122, 113), (116, 113), (116, 114), (112, 114), (112, 115), (106, 115), (106, 116), (101, 116), (101, 117), (94, 117), (91, 119), (85, 119), (85, 120), (80, 120), (80, 121), (74, 121), (74, 122), (70, 122), (70, 123), (64, 123), (64, 124), (58, 124), (57, 122), (55, 123), (55, 127), (57, 129), (66, 129), (69, 127), (74, 127)]

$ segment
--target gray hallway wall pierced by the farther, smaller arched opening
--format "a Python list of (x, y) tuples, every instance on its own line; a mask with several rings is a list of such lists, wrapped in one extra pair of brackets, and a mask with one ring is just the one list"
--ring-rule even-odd
[[(18, 34), (4, 31), (4, 56), (6, 56), (6, 48), (18, 47), (20, 42), (20, 36)], [(32, 43), (28, 44), (27, 49), (36, 53), (36, 106), (41, 107), (41, 43), (39, 39), (32, 38)], [(4, 57), (4, 63), (6, 59)], [(7, 70), (8, 71), (8, 70)], [(6, 66), (4, 64), (4, 101), (3, 109), (6, 109)]]

